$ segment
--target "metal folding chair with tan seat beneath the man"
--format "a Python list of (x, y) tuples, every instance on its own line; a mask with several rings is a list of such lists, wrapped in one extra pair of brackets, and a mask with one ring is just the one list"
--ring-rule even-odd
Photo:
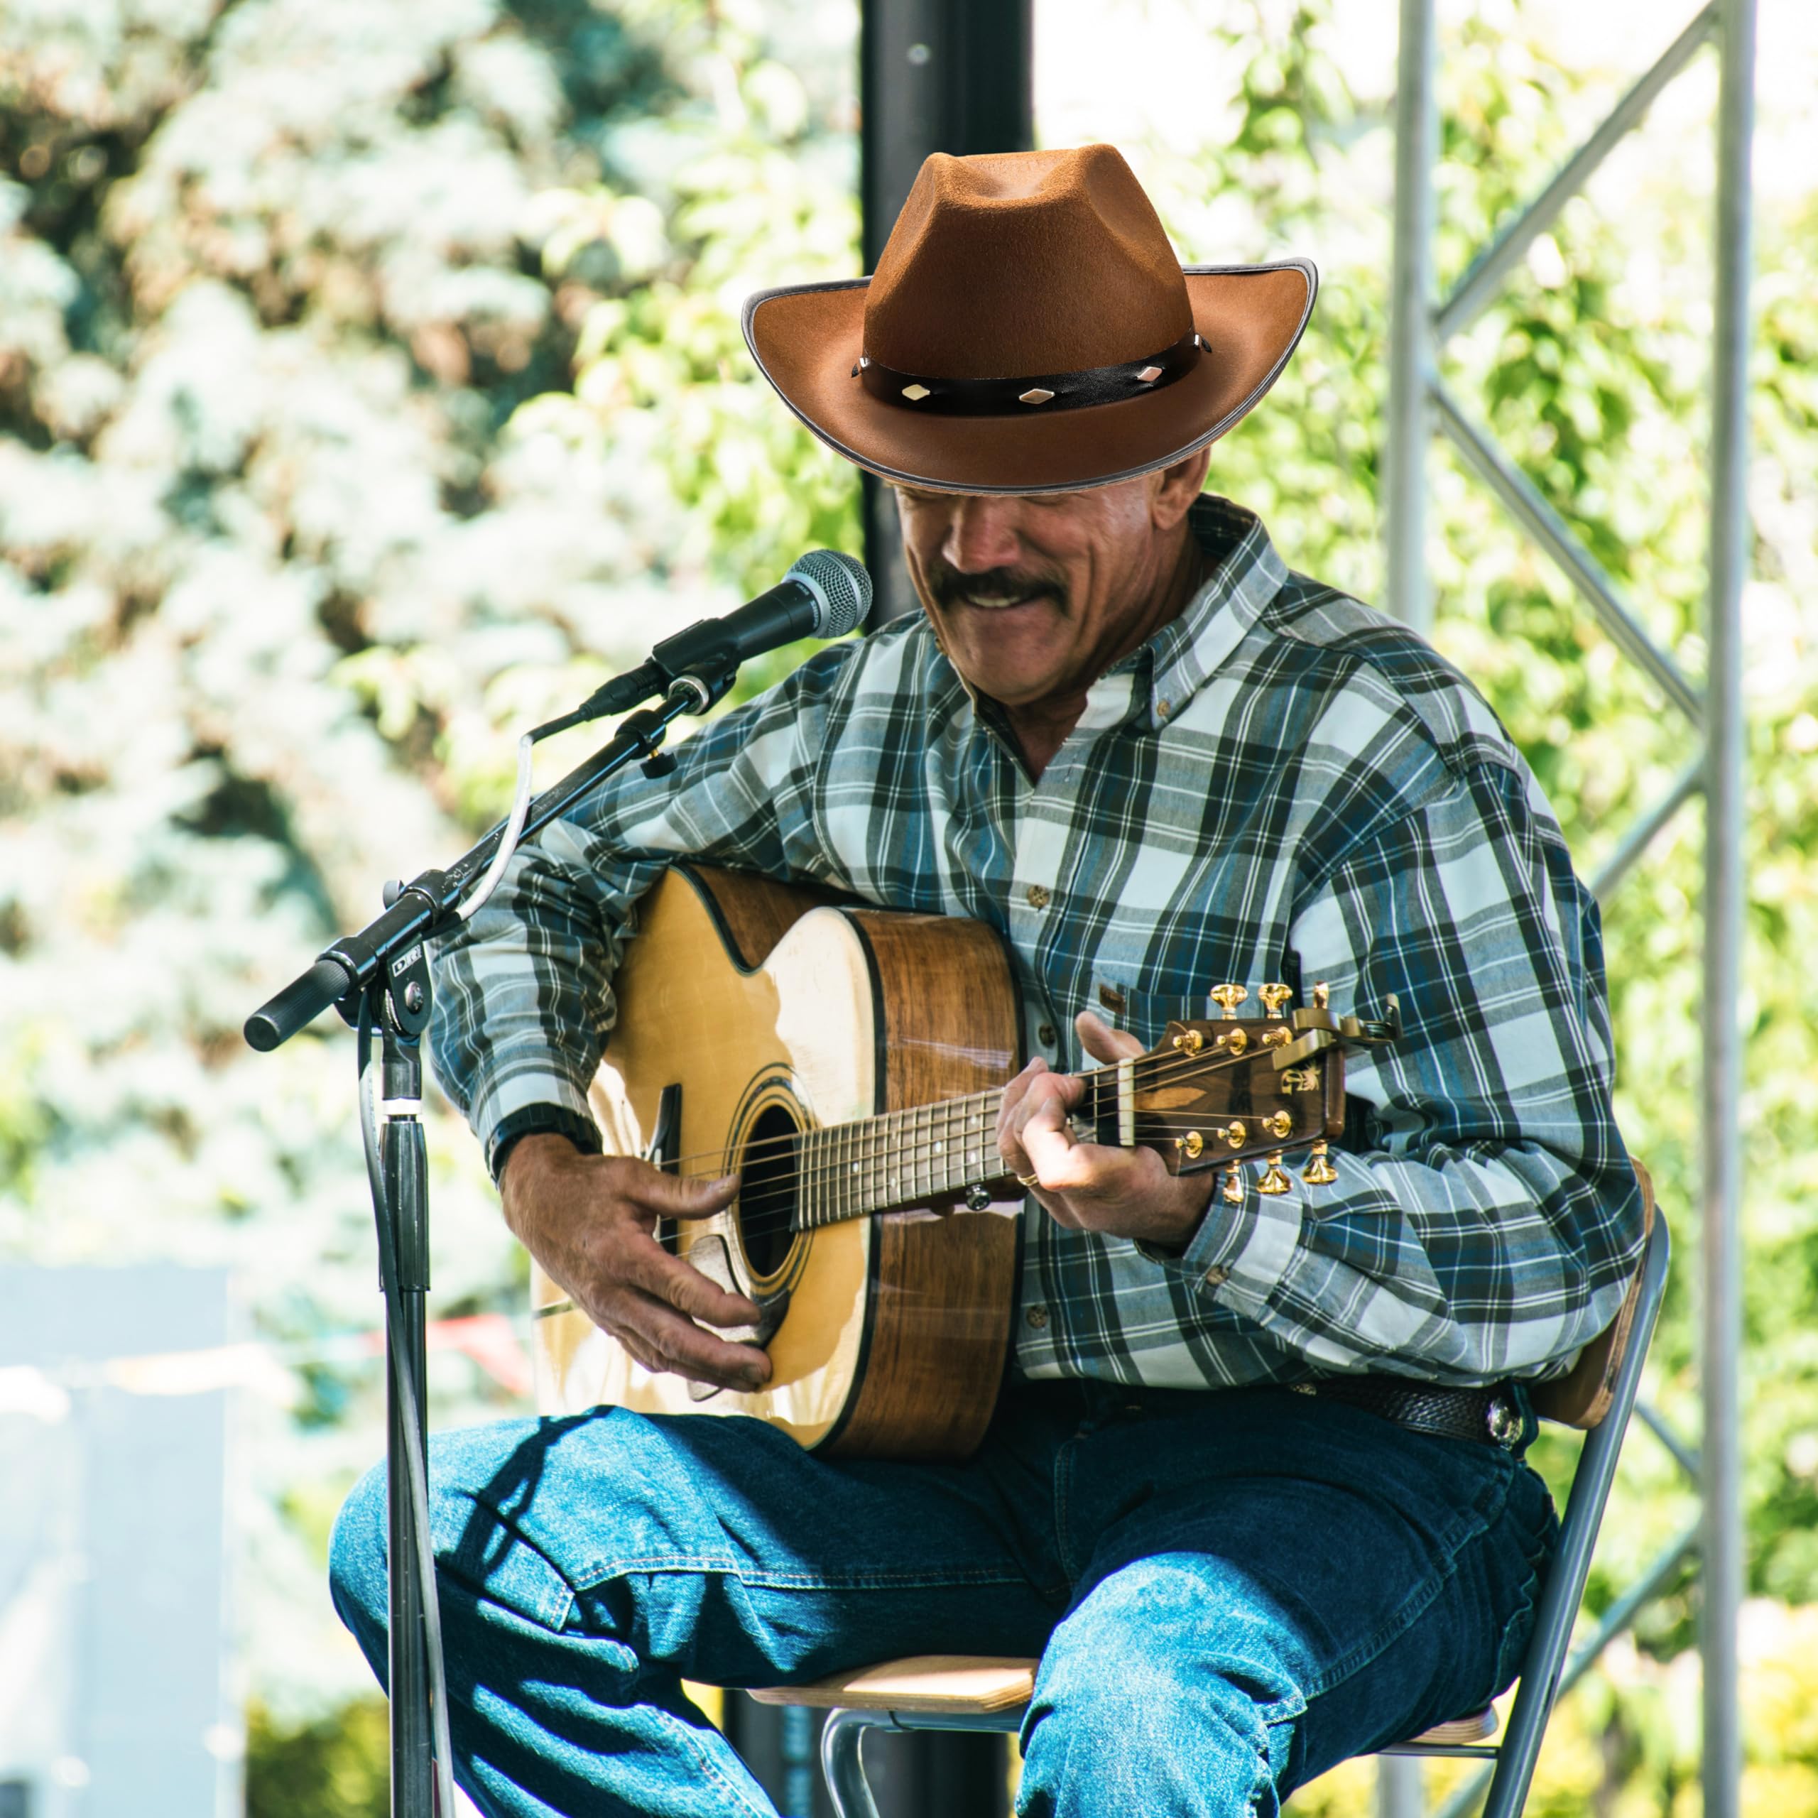
[[(1533, 1400), (1545, 1420), (1578, 1427), (1585, 1434), (1573, 1474), (1573, 1489), (1560, 1523), (1560, 1547), (1540, 1593), (1534, 1634), (1522, 1662), (1522, 1680), (1500, 1743), (1496, 1711), (1487, 1707), (1440, 1723), (1420, 1736), (1383, 1749), (1383, 1754), (1467, 1756), (1494, 1763), (1483, 1818), (1518, 1818), (1527, 1803), (1534, 1762), (1547, 1718), (1558, 1696), (1573, 1620), (1583, 1598), (1591, 1553), (1596, 1547), (1603, 1505), (1616, 1476), (1623, 1431), (1642, 1382), (1642, 1364), (1654, 1336), (1660, 1302), (1667, 1285), (1671, 1244), (1667, 1224), (1656, 1216), (1654, 1189), (1636, 1162), (1642, 1185), (1647, 1247), (1629, 1284), (1622, 1311), (1580, 1353), (1571, 1373), (1536, 1383)], [(1034, 1694), (1034, 1660), (993, 1660), (965, 1654), (918, 1654), (885, 1660), (853, 1673), (836, 1673), (809, 1685), (778, 1685), (754, 1691), (760, 1703), (807, 1705), (827, 1711), (820, 1738), (820, 1763), (840, 1818), (878, 1818), (858, 1753), (867, 1729), (985, 1729), (1014, 1733)]]

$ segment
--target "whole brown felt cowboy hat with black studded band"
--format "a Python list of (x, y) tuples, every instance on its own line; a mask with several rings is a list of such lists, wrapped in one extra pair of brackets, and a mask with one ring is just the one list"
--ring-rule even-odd
[(871, 278), (745, 304), (764, 376), (829, 447), (949, 493), (1064, 493), (1165, 467), (1274, 384), (1311, 260), (1174, 262), (1113, 145), (936, 153)]

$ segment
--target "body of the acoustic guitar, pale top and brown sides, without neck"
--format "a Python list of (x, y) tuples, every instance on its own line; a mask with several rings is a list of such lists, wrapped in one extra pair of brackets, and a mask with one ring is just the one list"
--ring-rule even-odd
[(538, 1407), (754, 1414), (838, 1456), (971, 1453), (1009, 1349), (1022, 1196), (791, 1229), (774, 1158), (794, 1131), (1011, 1078), (1016, 991), (996, 934), (676, 865), (640, 905), (614, 993), (593, 1091), (607, 1153), (656, 1140), (685, 1174), (740, 1169), (729, 1214), (662, 1234), (767, 1309), (771, 1380), (747, 1394), (651, 1374), (533, 1264)]

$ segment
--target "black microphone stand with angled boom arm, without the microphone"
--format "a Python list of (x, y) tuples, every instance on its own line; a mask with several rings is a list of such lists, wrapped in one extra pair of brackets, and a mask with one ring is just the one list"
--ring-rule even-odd
[[(664, 696), (629, 714), (613, 738), (585, 764), (534, 796), (520, 838), (558, 820), (585, 794), (633, 762), (651, 776), (674, 769), (658, 747), (673, 720), (705, 713), (733, 685), (738, 664), (722, 647), (698, 649), (702, 660), (684, 674), (658, 678), (642, 693)], [(611, 684), (609, 684), (611, 687)], [(600, 694), (605, 691), (602, 689)], [(574, 713), (549, 722), (533, 736), (596, 718), (609, 711), (593, 696)], [(440, 1809), (438, 1782), (451, 1785), (451, 1762), (438, 1762), (436, 1703), (444, 1685), (440, 1618), (435, 1598), (435, 1562), (427, 1547), (424, 1502), (425, 1347), (424, 1316), (429, 1293), (429, 1167), (424, 1149), (422, 1034), (429, 1027), (431, 978), (427, 942), (460, 925), (458, 905), (491, 865), (505, 834), (500, 822), (445, 871), (424, 871), (409, 884), (385, 885), (385, 911), (358, 934), (344, 934), (322, 949), (307, 973), (291, 980), (245, 1022), (245, 1038), (262, 1053), (287, 1042), (331, 1004), (360, 1031), (360, 1114), (378, 1231), (380, 1284), (385, 1298), (385, 1460), (391, 1567), (391, 1811), (393, 1818), (454, 1818)], [(373, 1113), (365, 1098), (371, 1031), (380, 1033), (384, 1131), (373, 1142)], [(445, 1720), (445, 1709), (440, 1713)], [(445, 1729), (442, 1731), (445, 1736)], [(440, 1767), (440, 1774), (438, 1774)]]

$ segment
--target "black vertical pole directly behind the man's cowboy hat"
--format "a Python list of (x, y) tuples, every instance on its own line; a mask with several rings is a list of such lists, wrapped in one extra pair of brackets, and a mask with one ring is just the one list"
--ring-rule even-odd
[[(860, 0), (858, 113), (865, 271), (874, 271), (933, 151), (1027, 151), (1034, 144), (1031, 0)], [(896, 502), (871, 474), (865, 567), (871, 622), (916, 609)]]

